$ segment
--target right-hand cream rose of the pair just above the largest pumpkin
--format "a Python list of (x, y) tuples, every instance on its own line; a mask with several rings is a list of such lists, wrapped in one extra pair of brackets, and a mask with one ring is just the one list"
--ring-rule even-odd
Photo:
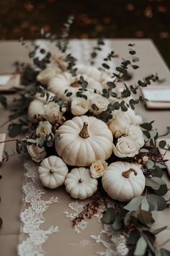
[[(90, 103), (91, 103), (91, 108), (90, 111), (91, 113), (94, 113), (95, 115), (102, 114), (103, 111), (107, 110), (107, 107), (109, 105), (109, 100), (107, 98), (104, 98), (102, 95), (97, 94), (97, 93), (91, 93), (90, 95)], [(92, 108), (92, 105), (95, 104), (98, 110), (94, 110)]]

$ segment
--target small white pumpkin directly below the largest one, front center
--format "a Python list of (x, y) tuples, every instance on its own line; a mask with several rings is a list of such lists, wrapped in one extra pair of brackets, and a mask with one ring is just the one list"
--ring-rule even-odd
[(73, 198), (85, 199), (97, 191), (97, 179), (91, 177), (89, 168), (73, 168), (66, 176), (66, 191)]

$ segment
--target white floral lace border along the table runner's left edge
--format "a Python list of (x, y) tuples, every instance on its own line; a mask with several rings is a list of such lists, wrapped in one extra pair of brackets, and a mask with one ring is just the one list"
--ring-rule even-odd
[[(37, 174), (37, 166), (32, 161), (24, 164), (24, 185), (23, 185), (23, 208), (20, 219), (23, 223), (18, 245), (19, 256), (43, 256), (42, 244), (48, 236), (58, 231), (58, 226), (51, 226), (48, 230), (40, 229), (45, 223), (43, 213), (48, 210), (52, 203), (58, 202), (58, 197), (50, 197), (48, 201), (42, 200), (45, 194)], [(25, 208), (27, 207), (27, 208)], [(21, 237), (22, 236), (22, 237)]]

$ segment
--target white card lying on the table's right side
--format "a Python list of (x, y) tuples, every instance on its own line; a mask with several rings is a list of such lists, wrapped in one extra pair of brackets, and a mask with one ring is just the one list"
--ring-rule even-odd
[(162, 101), (170, 102), (170, 88), (169, 89), (143, 89), (143, 95), (148, 101)]

